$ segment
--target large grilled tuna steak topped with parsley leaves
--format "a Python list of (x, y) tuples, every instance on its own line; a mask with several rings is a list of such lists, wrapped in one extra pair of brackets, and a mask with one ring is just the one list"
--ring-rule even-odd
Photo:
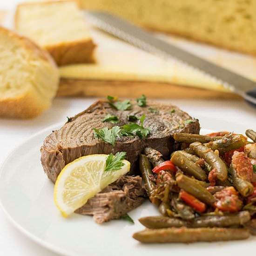
[[(155, 148), (163, 156), (168, 156), (173, 151), (174, 132), (199, 133), (199, 122), (191, 120), (191, 116), (175, 106), (147, 101), (146, 107), (140, 107), (136, 101), (130, 102), (130, 110), (121, 111), (110, 106), (108, 101), (97, 101), (85, 111), (70, 118), (61, 129), (48, 135), (41, 147), (41, 163), (48, 178), (55, 182), (67, 163), (83, 155), (115, 154), (119, 151), (127, 152), (127, 160), (131, 162), (132, 170), (143, 148)], [(152, 113), (149, 108), (157, 109), (158, 113)], [(108, 114), (118, 116), (120, 122), (102, 122)], [(120, 136), (116, 138), (115, 148), (95, 138), (93, 128), (111, 128), (116, 125), (121, 127), (129, 123), (128, 115), (139, 118), (146, 115), (143, 126), (151, 128), (146, 138)], [(136, 122), (140, 124), (139, 121)]]

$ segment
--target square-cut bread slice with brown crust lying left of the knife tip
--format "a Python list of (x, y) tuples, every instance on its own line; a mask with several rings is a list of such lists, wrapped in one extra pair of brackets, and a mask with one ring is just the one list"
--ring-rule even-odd
[(94, 62), (95, 44), (75, 0), (20, 4), (15, 29), (47, 49), (59, 66)]

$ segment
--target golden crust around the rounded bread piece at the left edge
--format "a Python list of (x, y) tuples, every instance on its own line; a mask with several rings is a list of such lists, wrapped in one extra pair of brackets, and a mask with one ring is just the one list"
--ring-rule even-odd
[(19, 46), (26, 50), (28, 59), (40, 62), (38, 69), (43, 69), (44, 65), (46, 65), (50, 71), (46, 77), (48, 87), (42, 88), (42, 91), (37, 91), (31, 85), (26, 91), (15, 96), (6, 97), (5, 95), (0, 95), (0, 117), (21, 119), (35, 117), (51, 105), (59, 84), (58, 67), (51, 55), (33, 41), (4, 27), (0, 27), (0, 31), (6, 34), (10, 40), (18, 41)]

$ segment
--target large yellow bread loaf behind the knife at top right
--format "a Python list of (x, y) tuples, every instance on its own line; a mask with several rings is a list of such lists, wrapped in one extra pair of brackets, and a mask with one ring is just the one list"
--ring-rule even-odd
[(256, 0), (80, 0), (153, 30), (256, 54)]

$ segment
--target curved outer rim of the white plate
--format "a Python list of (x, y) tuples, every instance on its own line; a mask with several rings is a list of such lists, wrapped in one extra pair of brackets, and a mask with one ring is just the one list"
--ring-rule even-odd
[[(46, 128), (43, 128), (43, 129), (39, 130), (38, 132), (36, 132), (34, 135), (31, 135), (31, 136), (27, 137), (26, 139), (22, 140), (16, 147), (14, 147), (9, 152), (7, 157), (1, 163), (1, 165), (0, 165), (0, 176), (3, 173), (4, 166), (7, 164), (7, 162), (9, 161), (9, 158), (12, 157), (13, 153), (15, 152), (15, 150), (17, 150), (17, 148), (20, 148), (27, 141), (33, 140), (34, 137), (37, 137), (38, 135), (40, 135), (40, 134), (42, 134), (42, 133), (44, 133), (46, 131), (53, 130), (54, 128), (56, 129), (56, 128), (61, 127), (61, 126), (63, 126), (63, 122), (56, 123), (54, 125), (48, 126)], [(214, 132), (213, 130), (210, 130), (210, 129), (200, 128), (200, 130), (201, 129), (206, 130), (208, 132)], [(44, 239), (34, 235), (32, 232), (27, 231), (27, 229), (22, 227), (22, 225), (19, 222), (17, 222), (11, 216), (11, 214), (8, 213), (7, 209), (5, 209), (5, 207), (3, 205), (3, 202), (1, 200), (1, 194), (0, 194), (0, 209), (3, 210), (4, 215), (12, 223), (12, 225), (20, 231), (20, 233), (24, 234), (25, 236), (27, 236), (27, 238), (31, 239), (33, 242), (35, 242), (36, 244), (40, 245), (41, 247), (44, 247), (44, 248), (46, 248), (46, 249), (48, 249), (48, 250), (50, 250), (50, 251), (52, 251), (52, 252), (54, 252), (56, 254), (61, 254), (61, 255), (64, 255), (64, 256), (70, 256), (70, 255), (72, 255), (72, 256), (81, 256), (81, 254), (74, 253), (74, 251), (62, 249), (61, 247), (56, 246), (53, 243), (46, 242)]]

